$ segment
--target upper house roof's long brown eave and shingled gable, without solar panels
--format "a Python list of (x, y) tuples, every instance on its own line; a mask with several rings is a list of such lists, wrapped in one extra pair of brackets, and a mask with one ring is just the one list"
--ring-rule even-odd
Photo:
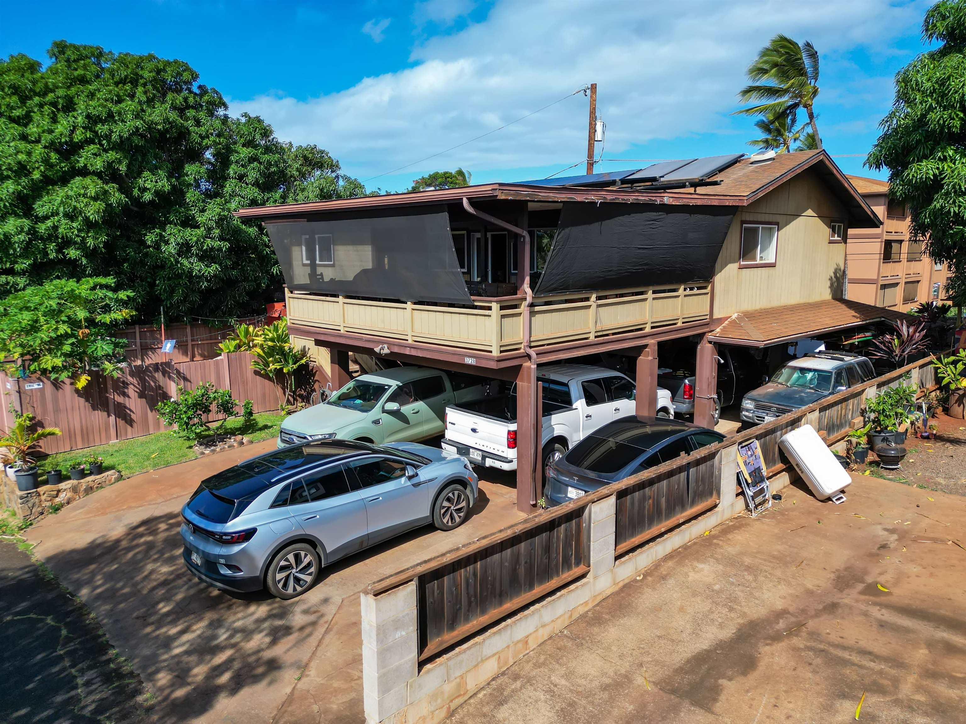
[(831, 191), (849, 210), (850, 227), (875, 228), (882, 225), (882, 221), (867, 205), (862, 195), (846, 180), (831, 156), (824, 151), (780, 153), (766, 162), (753, 162), (751, 158), (744, 158), (710, 177), (709, 185), (686, 189), (649, 188), (646, 185), (588, 187), (539, 186), (533, 182), (499, 182), (383, 196), (362, 196), (354, 199), (254, 207), (239, 209), (235, 215), (241, 218), (281, 220), (332, 211), (455, 203), (464, 197), (471, 200), (504, 199), (550, 203), (596, 202), (742, 207), (751, 204), (784, 181), (809, 168), (814, 169), (826, 181)]

